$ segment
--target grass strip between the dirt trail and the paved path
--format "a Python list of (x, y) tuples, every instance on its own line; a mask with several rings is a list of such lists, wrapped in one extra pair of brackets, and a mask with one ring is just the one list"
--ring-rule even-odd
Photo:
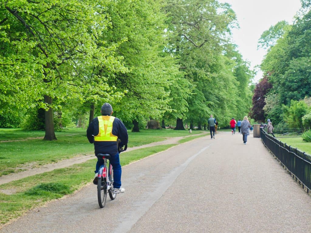
[[(175, 144), (154, 146), (120, 154), (120, 162), (125, 166), (155, 153), (164, 151)], [(56, 169), (21, 180), (0, 185), (0, 190), (14, 190), (14, 194), (0, 192), (0, 227), (16, 219), (26, 211), (42, 206), (47, 201), (59, 199), (81, 189), (94, 177), (96, 159), (81, 164)], [(94, 187), (95, 188), (95, 187)], [(96, 199), (96, 197), (94, 197)]]

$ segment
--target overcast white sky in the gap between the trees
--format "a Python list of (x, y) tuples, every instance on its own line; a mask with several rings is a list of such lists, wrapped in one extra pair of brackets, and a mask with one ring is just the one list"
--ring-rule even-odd
[[(232, 30), (233, 43), (239, 46), (244, 60), (251, 62), (251, 67), (260, 65), (266, 51), (257, 50), (258, 39), (271, 25), (286, 20), (293, 23), (296, 12), (300, 9), (299, 0), (219, 0), (227, 2), (237, 15), (239, 29)], [(254, 78), (256, 83), (262, 78), (259, 69)]]

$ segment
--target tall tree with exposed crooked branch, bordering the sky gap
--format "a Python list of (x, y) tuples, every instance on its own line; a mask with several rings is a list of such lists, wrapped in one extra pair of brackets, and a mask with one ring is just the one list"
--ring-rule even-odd
[(179, 57), (180, 69), (194, 87), (187, 98), (191, 111), (181, 112), (176, 121), (176, 129), (184, 129), (183, 118), (201, 124), (217, 102), (211, 91), (219, 71), (216, 61), (236, 18), (230, 5), (211, 0), (168, 0), (165, 11), (172, 32), (168, 50)]

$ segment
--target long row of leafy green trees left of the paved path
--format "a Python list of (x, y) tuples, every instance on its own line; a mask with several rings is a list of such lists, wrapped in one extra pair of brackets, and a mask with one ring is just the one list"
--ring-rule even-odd
[(109, 102), (139, 131), (149, 120), (199, 128), (247, 115), (254, 76), (216, 0), (0, 2), (0, 127), (87, 127)]

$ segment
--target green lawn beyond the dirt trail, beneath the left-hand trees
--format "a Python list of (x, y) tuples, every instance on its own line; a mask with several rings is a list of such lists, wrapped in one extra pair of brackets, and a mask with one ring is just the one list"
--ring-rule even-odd
[[(193, 134), (201, 134), (201, 130), (193, 130)], [(43, 137), (43, 131), (23, 131), (20, 129), (0, 129), (1, 140), (18, 140)], [(5, 135), (5, 136), (4, 136)], [(86, 130), (69, 129), (55, 132), (57, 140), (44, 141), (30, 139), (0, 143), (0, 176), (26, 169), (27, 166), (41, 166), (79, 155), (94, 153), (94, 146), (86, 138)], [(128, 147), (140, 146), (162, 141), (169, 137), (188, 136), (187, 130), (141, 130), (128, 132)]]

